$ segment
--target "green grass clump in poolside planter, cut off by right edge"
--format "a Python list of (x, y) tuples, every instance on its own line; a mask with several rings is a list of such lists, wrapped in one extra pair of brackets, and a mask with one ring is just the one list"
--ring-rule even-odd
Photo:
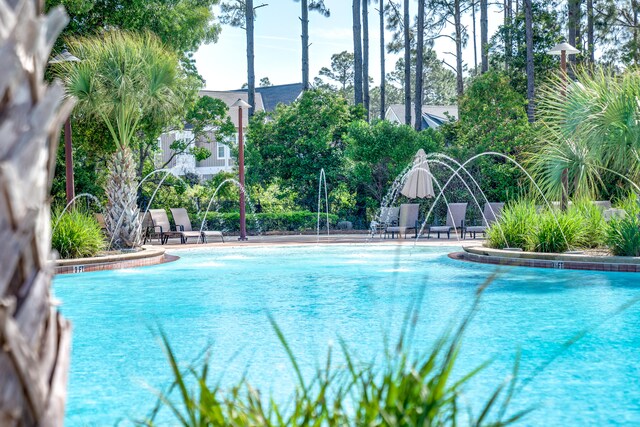
[(614, 255), (640, 256), (640, 206), (635, 194), (623, 200), (620, 208), (627, 214), (609, 221), (607, 245)]

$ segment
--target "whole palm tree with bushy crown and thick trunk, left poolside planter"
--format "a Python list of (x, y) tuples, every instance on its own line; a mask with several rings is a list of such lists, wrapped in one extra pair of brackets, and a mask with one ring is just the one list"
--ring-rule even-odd
[(108, 32), (67, 42), (82, 62), (61, 63), (56, 72), (78, 111), (104, 122), (116, 146), (109, 161), (105, 222), (116, 247), (139, 244), (137, 177), (132, 146), (145, 114), (179, 108), (179, 63), (151, 34)]

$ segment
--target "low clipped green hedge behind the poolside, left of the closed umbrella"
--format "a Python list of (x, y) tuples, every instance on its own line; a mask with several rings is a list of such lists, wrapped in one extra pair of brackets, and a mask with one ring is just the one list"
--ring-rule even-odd
[[(193, 224), (193, 227), (199, 229), (201, 221), (202, 217)], [(338, 216), (329, 214), (330, 227), (334, 228), (337, 222)], [(309, 231), (315, 230), (317, 225), (318, 214), (316, 212), (247, 213), (247, 230), (253, 232)], [(205, 227), (209, 230), (238, 232), (240, 228), (240, 213), (209, 212)], [(320, 228), (326, 230), (326, 214), (320, 214)]]

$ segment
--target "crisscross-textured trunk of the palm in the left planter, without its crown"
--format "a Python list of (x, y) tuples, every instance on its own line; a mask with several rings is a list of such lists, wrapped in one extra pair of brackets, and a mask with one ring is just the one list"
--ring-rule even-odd
[(129, 147), (116, 151), (109, 162), (105, 223), (112, 245), (134, 248), (140, 245), (140, 220), (136, 203), (136, 169)]

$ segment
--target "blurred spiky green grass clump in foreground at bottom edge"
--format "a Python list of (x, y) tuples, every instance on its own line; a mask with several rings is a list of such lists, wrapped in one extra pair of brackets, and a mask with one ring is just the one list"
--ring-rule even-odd
[[(483, 289), (492, 279), (489, 279)], [(479, 292), (482, 292), (480, 290)], [(385, 362), (361, 363), (348, 346), (341, 343), (341, 361), (329, 348), (327, 361), (311, 378), (305, 378), (282, 331), (272, 319), (297, 378), (295, 392), (285, 404), (263, 396), (246, 381), (222, 389), (209, 386), (209, 362), (200, 368), (180, 368), (163, 334), (164, 348), (174, 381), (166, 393), (159, 393), (158, 404), (148, 419), (138, 425), (153, 426), (159, 410), (167, 407), (174, 425), (209, 426), (506, 426), (530, 410), (509, 411), (517, 390), (518, 358), (511, 378), (498, 385), (473, 413), (462, 394), (469, 381), (482, 371), (484, 363), (466, 375), (453, 374), (465, 329), (477, 311), (479, 298), (452, 333), (444, 334), (431, 350), (415, 355), (408, 348), (410, 333), (403, 333)], [(414, 322), (417, 314), (411, 313)], [(409, 323), (409, 322), (407, 322)]]

